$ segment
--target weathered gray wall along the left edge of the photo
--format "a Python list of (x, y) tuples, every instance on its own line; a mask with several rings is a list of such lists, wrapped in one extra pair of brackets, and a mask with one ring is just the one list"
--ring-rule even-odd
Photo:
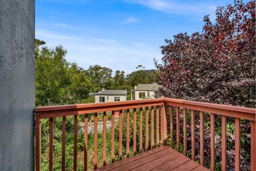
[(0, 170), (34, 170), (35, 0), (0, 0)]

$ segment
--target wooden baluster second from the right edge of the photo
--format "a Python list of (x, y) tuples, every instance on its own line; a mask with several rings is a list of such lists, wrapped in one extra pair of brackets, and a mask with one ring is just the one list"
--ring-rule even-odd
[(235, 170), (240, 170), (240, 118), (235, 118)]

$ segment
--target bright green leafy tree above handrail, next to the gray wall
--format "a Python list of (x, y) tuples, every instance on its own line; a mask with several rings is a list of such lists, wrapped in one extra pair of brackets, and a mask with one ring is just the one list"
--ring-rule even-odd
[[(35, 40), (36, 106), (81, 103), (89, 97), (91, 80), (76, 63), (69, 63), (61, 46), (48, 48)], [(42, 46), (42, 47), (41, 47)]]

